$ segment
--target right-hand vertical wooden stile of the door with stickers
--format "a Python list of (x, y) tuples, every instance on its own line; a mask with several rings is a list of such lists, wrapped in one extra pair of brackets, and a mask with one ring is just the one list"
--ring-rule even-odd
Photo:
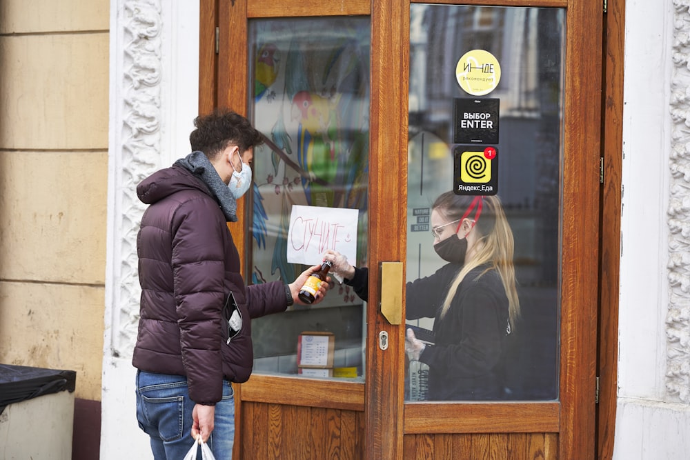
[(559, 444), (576, 460), (595, 455), (601, 74), (586, 63), (601, 63), (601, 2), (569, 0), (566, 23)]

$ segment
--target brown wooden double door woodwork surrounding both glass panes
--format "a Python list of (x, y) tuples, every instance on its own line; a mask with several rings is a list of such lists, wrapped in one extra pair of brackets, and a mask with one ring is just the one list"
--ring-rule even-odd
[[(435, 3), (453, 6), (455, 2)], [(366, 265), (370, 270), (364, 311), (364, 381), (255, 372), (236, 388), (237, 458), (586, 459), (595, 455), (601, 3), (462, 3), (544, 8), (558, 10), (563, 17), (562, 93), (554, 95), (561, 104), (555, 128), (560, 146), (555, 174), (558, 220), (552, 235), (558, 242), (552, 273), (558, 290), (558, 394), (552, 400), (477, 402), (406, 402), (405, 324), (391, 321), (380, 309), (382, 303), (386, 308), (397, 306), (404, 317), (404, 283), (382, 279), (380, 268), (393, 262), (410, 269), (408, 95), (415, 4), (400, 0), (201, 0), (201, 112), (231, 107), (249, 114), (255, 94), (249, 80), (252, 21), (362, 17), (371, 24), (366, 200)], [(245, 199), (239, 208), (246, 221), (252, 221), (253, 202)], [(230, 225), (245, 256), (246, 279), (251, 281), (249, 228), (248, 223)], [(391, 295), (395, 286), (398, 294)], [(386, 346), (380, 346), (382, 333), (387, 336)]]

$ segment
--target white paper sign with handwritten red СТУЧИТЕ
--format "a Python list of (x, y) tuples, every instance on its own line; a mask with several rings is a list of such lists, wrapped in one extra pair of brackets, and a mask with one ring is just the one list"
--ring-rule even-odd
[(358, 215), (356, 209), (294, 205), (288, 229), (288, 262), (319, 265), (324, 252), (332, 249), (355, 265)]

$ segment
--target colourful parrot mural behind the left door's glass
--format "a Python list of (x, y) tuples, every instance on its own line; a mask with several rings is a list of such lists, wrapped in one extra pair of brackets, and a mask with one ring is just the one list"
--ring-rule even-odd
[[(256, 117), (262, 122), (268, 121), (262, 117), (273, 118), (273, 128), (259, 148), (270, 169), (267, 183), (254, 190), (253, 237), (258, 250), (272, 252), (270, 274), (279, 272), (279, 279), (294, 279), (299, 268), (286, 257), (293, 204), (355, 208), (366, 221), (368, 35), (356, 28), (340, 33), (335, 38), (330, 32), (315, 33), (307, 41), (301, 34), (285, 42), (269, 39), (256, 58)], [(277, 37), (293, 36), (281, 31)], [(276, 58), (278, 48), (282, 62)], [(268, 109), (266, 104), (274, 101), (271, 91), (277, 96)], [(277, 207), (273, 200), (270, 212), (262, 197), (268, 190), (281, 197)], [(273, 244), (266, 243), (269, 229)], [(358, 231), (366, 232), (366, 225)], [(366, 256), (365, 243), (366, 238), (357, 238), (357, 254)], [(254, 282), (264, 282), (266, 268), (253, 268)]]

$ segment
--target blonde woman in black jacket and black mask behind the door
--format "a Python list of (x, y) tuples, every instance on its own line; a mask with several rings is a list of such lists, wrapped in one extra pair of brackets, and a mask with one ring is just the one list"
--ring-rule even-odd
[[(446, 265), (406, 286), (406, 319), (434, 318), (434, 343), (407, 330), (406, 352), (429, 366), (434, 400), (501, 399), (506, 339), (520, 317), (513, 233), (498, 197), (446, 192), (431, 212), (434, 250)], [(331, 272), (366, 300), (367, 269), (327, 251)]]

